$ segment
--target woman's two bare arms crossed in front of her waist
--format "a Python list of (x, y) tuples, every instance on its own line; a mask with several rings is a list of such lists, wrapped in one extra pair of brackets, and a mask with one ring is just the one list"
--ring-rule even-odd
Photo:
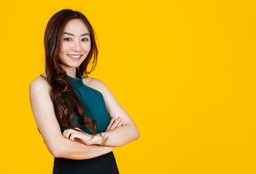
[(106, 130), (109, 139), (105, 146), (98, 145), (102, 142), (99, 134), (91, 138), (87, 133), (72, 129), (65, 130), (62, 134), (49, 96), (49, 84), (44, 78), (36, 78), (30, 83), (30, 105), (33, 116), (44, 143), (54, 157), (69, 159), (98, 157), (112, 152), (115, 146), (123, 146), (139, 138), (139, 130), (133, 120), (118, 104), (107, 86), (102, 81), (91, 78), (90, 87), (102, 92), (107, 112), (111, 117)]

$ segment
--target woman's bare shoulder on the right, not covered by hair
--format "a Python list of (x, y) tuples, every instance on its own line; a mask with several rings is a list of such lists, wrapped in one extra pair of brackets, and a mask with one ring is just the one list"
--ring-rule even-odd
[(83, 84), (90, 88), (94, 88), (102, 93), (104, 93), (104, 91), (108, 89), (103, 81), (97, 78), (83, 78)]

